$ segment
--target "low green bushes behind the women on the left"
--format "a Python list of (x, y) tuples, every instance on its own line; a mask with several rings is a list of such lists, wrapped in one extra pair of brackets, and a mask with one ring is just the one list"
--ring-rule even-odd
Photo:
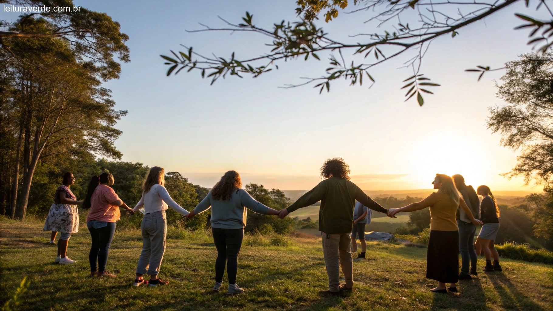
[[(88, 182), (93, 175), (100, 175), (102, 172), (112, 173), (114, 177), (113, 190), (117, 195), (127, 203), (129, 207), (134, 207), (142, 197), (142, 182), (149, 170), (148, 166), (142, 163), (108, 161), (105, 159), (97, 161), (69, 161), (57, 162), (55, 164), (41, 164), (37, 167), (35, 173), (36, 182), (33, 183), (31, 195), (29, 197), (29, 213), (36, 215), (37, 218), (44, 218), (50, 205), (53, 203), (53, 196), (56, 188), (61, 184), (62, 176), (65, 172), (72, 172), (76, 178), (75, 185), (71, 186), (71, 191), (77, 199), (84, 199), (88, 187)], [(171, 198), (186, 210), (192, 210), (199, 203), (199, 196), (205, 197), (208, 189), (198, 185), (192, 185), (187, 178), (179, 172), (167, 172), (165, 175), (165, 187), (171, 195)], [(86, 210), (80, 214), (85, 216)], [(122, 212), (121, 220), (118, 226), (127, 225), (134, 228), (140, 228), (142, 214), (136, 213), (132, 216)], [(208, 226), (210, 211), (201, 213), (192, 219), (186, 219), (173, 209), (167, 212), (168, 224), (180, 225), (183, 228), (191, 230), (205, 230)], [(81, 217), (84, 221), (84, 217)]]

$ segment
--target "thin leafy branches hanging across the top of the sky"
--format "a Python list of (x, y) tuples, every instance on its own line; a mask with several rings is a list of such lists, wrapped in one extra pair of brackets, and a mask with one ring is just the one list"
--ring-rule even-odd
[[(542, 0), (498, 0), (498, 1), (435, 1), (435, 0), (354, 0), (350, 13), (364, 14), (369, 25), (362, 33), (349, 35), (351, 38), (331, 37), (325, 31), (316, 27), (314, 20), (320, 14), (325, 15), (325, 21), (338, 17), (338, 9), (351, 6), (347, 0), (296, 0), (296, 13), (302, 15), (297, 22), (275, 23), (272, 29), (257, 27), (253, 15), (246, 12), (241, 23), (231, 23), (222, 19), (225, 25), (221, 28), (205, 27), (195, 31), (247, 31), (268, 36), (272, 42), (266, 54), (261, 56), (238, 57), (232, 52), (230, 57), (206, 56), (187, 51), (179, 54), (171, 51), (173, 56), (162, 55), (169, 66), (167, 75), (186, 69), (196, 70), (201, 77), (211, 78), (211, 83), (218, 78), (229, 76), (242, 77), (251, 75), (258, 77), (263, 73), (278, 69), (279, 62), (302, 57), (308, 60), (320, 60), (321, 52), (330, 52), (325, 72), (320, 77), (306, 78), (305, 83), (312, 84), (322, 92), (330, 91), (330, 84), (338, 78), (349, 81), (350, 85), (362, 85), (363, 78), (368, 83), (374, 83), (371, 71), (377, 65), (390, 59), (404, 56), (405, 67), (411, 73), (403, 81), (406, 100), (416, 98), (420, 106), (424, 104), (423, 93), (432, 93), (428, 88), (438, 86), (429, 82), (429, 78), (421, 73), (422, 59), (430, 43), (441, 36), (455, 38), (461, 29), (486, 17), (497, 14), (500, 10), (525, 2), (536, 6), (541, 12), (553, 18), (549, 4)], [(537, 44), (540, 51), (546, 51), (551, 46), (547, 40), (553, 36), (553, 19), (541, 21), (533, 17), (516, 14), (526, 24), (518, 28), (529, 28), (531, 40), (529, 44)], [(482, 24), (484, 25), (484, 24)], [(541, 32), (538, 32), (538, 31)], [(361, 39), (360, 39), (361, 38)], [(345, 55), (345, 52), (348, 54)], [(230, 53), (229, 53), (230, 54)], [(348, 57), (348, 55), (350, 55)], [(178, 68), (178, 69), (177, 69)], [(176, 71), (175, 71), (176, 70)], [(481, 73), (491, 70), (489, 66), (478, 66)], [(295, 87), (299, 85), (289, 85)]]

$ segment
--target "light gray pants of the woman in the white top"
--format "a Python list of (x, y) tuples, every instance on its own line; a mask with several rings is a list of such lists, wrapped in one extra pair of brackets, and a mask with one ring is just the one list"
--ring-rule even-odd
[(145, 214), (142, 218), (142, 253), (138, 260), (137, 273), (157, 275), (165, 252), (167, 219), (165, 211)]

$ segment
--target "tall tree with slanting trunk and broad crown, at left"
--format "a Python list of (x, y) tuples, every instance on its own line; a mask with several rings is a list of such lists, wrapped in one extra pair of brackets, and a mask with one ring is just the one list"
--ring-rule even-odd
[[(20, 20), (17, 26), (23, 25), (37, 32), (55, 27), (34, 17)], [(12, 38), (7, 45), (18, 56), (10, 70), (17, 88), (13, 100), (20, 115), (17, 152), (19, 148), (23, 151), (21, 159), (16, 155), (14, 165), (13, 203), (13, 194), (18, 193), (19, 164), (23, 180), (19, 203), (12, 204), (12, 210), (17, 206), (14, 216), (24, 219), (38, 162), (82, 150), (120, 159), (121, 152), (113, 142), (121, 131), (113, 125), (127, 112), (114, 110), (109, 90), (101, 87), (101, 80), (118, 77), (119, 67), (107, 65), (108, 59), (87, 58), (81, 54), (85, 50), (59, 38)]]

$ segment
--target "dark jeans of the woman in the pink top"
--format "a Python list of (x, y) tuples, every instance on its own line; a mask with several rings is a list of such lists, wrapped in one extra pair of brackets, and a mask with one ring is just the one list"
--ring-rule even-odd
[[(115, 225), (116, 223), (107, 223), (107, 226), (102, 228), (88, 228), (92, 236), (92, 247), (90, 247), (90, 254), (88, 254), (90, 271), (96, 272), (97, 268), (100, 269), (100, 272), (106, 271), (107, 255), (115, 233)], [(96, 259), (98, 260), (98, 266), (96, 266)]]

